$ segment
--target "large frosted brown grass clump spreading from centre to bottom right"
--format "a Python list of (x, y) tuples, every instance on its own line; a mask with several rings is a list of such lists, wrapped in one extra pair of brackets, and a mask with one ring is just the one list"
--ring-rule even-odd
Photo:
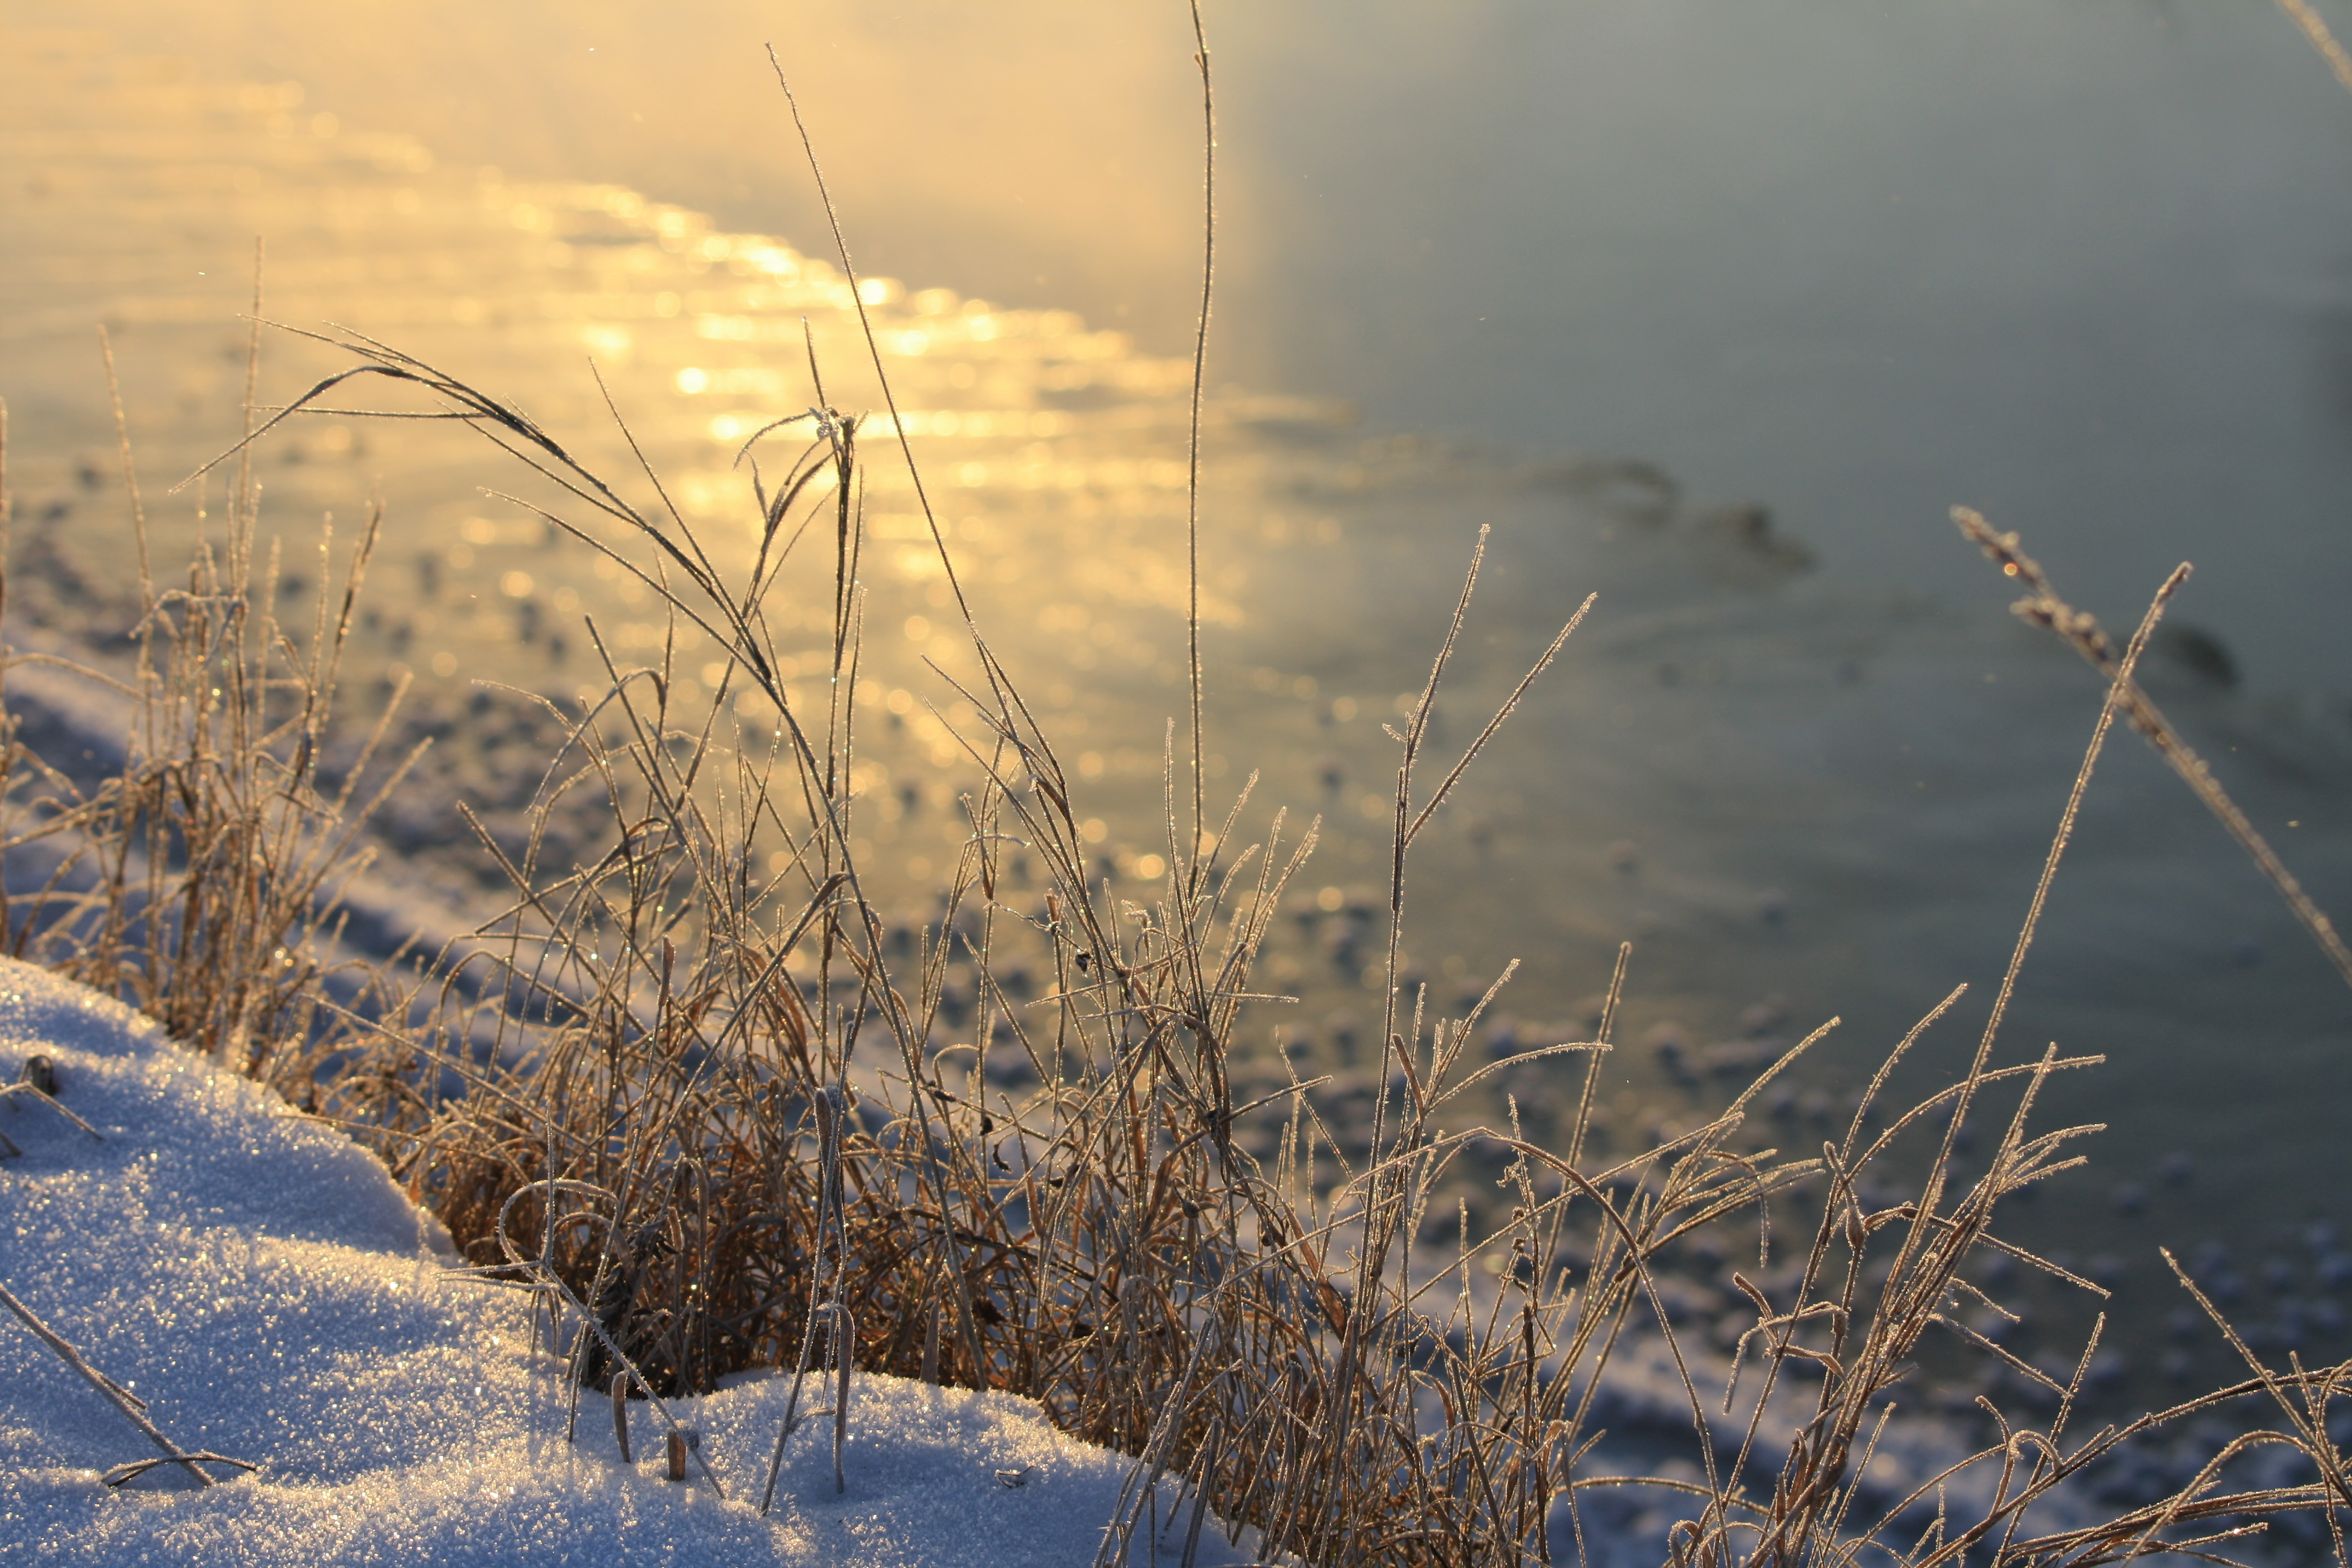
[[(2117, 717), (2145, 717), (2131, 672), (2178, 578), (2129, 646), (2110, 649), (2107, 703), (2002, 1001), (1957, 1084), (1898, 1114), (1877, 1103), (1896, 1065), (1924, 1048), (1945, 999), (1893, 1051), (1844, 1138), (1818, 1154), (1743, 1143), (1748, 1110), (1790, 1067), (1783, 1060), (1708, 1126), (1609, 1164), (1585, 1154), (1585, 1133), (1623, 961), (1597, 1037), (1548, 1048), (1588, 1058), (1555, 1147), (1470, 1117), (1472, 1091), (1526, 1058), (1477, 1060), (1475, 1011), (1439, 1018), (1423, 994), (1392, 985), (1388, 1088), (1369, 1145), (1343, 1147), (1317, 1117), (1312, 1084), (1256, 1103), (1232, 1091), (1251, 964), (1312, 827), (1294, 842), (1272, 813), (1244, 830), (1244, 790), (1221, 827), (1195, 839), (1174, 736), (1169, 872), (1148, 905), (1122, 903), (1089, 879), (1070, 778), (978, 639), (985, 679), (967, 696), (988, 717), (967, 736), (978, 788), (946, 903), (915, 929), (863, 893), (851, 849), (863, 804), (847, 783), (861, 736), (854, 705), (837, 696), (854, 686), (858, 658), (854, 416), (814, 409), (795, 421), (811, 440), (781, 473), (760, 473), (757, 543), (729, 571), (680, 515), (637, 510), (494, 397), (395, 350), (348, 348), (353, 371), (310, 397), (365, 376), (473, 421), (581, 508), (579, 517), (546, 510), (550, 522), (722, 642), (727, 686), (757, 689), (779, 715), (746, 729), (720, 717), (724, 703), (675, 710), (666, 668), (609, 663), (609, 696), (572, 717), (543, 783), (548, 804), (593, 790), (607, 839), (576, 863), (543, 865), (534, 846), (510, 853), (485, 835), (485, 853), (501, 856), (513, 879), (508, 917), (449, 954), (440, 990), (416, 1011), (379, 1009), (372, 1025), (341, 1016), (372, 1039), (329, 1074), (322, 1103), (365, 1128), (485, 1276), (557, 1312), (576, 1385), (597, 1394), (635, 1385), (659, 1403), (741, 1368), (807, 1380), (854, 1363), (1028, 1394), (1073, 1434), (1138, 1455), (1112, 1556), (1143, 1512), (1164, 1505), (1155, 1490), (1174, 1488), (1263, 1530), (1268, 1552), (1305, 1561), (1550, 1561), (1583, 1544), (1576, 1500), (1625, 1483), (1578, 1469), (1599, 1436), (1602, 1368), (1632, 1340), (1677, 1347), (1661, 1258), (1745, 1215), (1759, 1222), (1755, 1279), (1776, 1284), (1738, 1274), (1755, 1321), (1736, 1389), (1703, 1389), (1700, 1361), (1677, 1347), (1693, 1368), (1686, 1401), (1703, 1481), (1661, 1481), (1689, 1495), (1686, 1521), (1658, 1544), (1665, 1561), (2093, 1563), (2159, 1542), (2180, 1549), (2265, 1514), (2333, 1519), (2352, 1502), (2326, 1436), (2328, 1401), (2352, 1368), (2277, 1371), (2249, 1352), (2256, 1375), (2244, 1385), (2074, 1434), (2067, 1420), (2089, 1347), (2072, 1380), (2051, 1380), (1969, 1321), (1983, 1302), (1971, 1265), (1992, 1251), (2065, 1276), (2006, 1244), (1994, 1220), (2006, 1197), (2077, 1164), (2072, 1143), (2091, 1128), (2034, 1131), (2030, 1112), (2051, 1074), (2091, 1058), (2002, 1063), (1997, 1032), (2105, 736)], [(2013, 541), (1990, 543), (2023, 559)], [(830, 550), (842, 679), (811, 682), (814, 705), (774, 677), (764, 632), (764, 599), (795, 548)], [(1477, 564), (1399, 731), (1390, 952), (1414, 837), (1510, 712), (1505, 703), (1437, 785), (1423, 785), (1425, 724), (1472, 609)], [(2091, 635), (2056, 590), (2037, 581), (2034, 592), (2044, 618)], [(223, 628), (235, 621), (219, 616)], [(193, 609), (174, 621), (212, 623)], [(313, 654), (301, 668), (322, 665)], [(158, 691), (169, 693), (169, 679)], [(195, 745), (235, 731), (160, 733)], [(301, 731), (278, 726), (280, 745), (289, 733)], [(226, 799), (183, 785), (198, 804), (179, 806), (174, 823), (235, 820), (226, 802), (242, 799), (238, 788), (292, 773), (270, 748), (200, 757), (207, 766), (151, 766), (155, 778), (221, 780)], [(242, 776), (233, 757), (247, 759)], [(85, 811), (75, 825), (120, 853), (125, 825), (146, 820)], [(1016, 889), (1018, 856), (1037, 872)], [(176, 865), (202, 879), (207, 863)], [(303, 910), (332, 903), (332, 886), (306, 886)], [(188, 919), (202, 922), (188, 950), (254, 961), (252, 943), (238, 945), (249, 905), (198, 893), (181, 893)], [(94, 922), (73, 938), (75, 952), (89, 973), (129, 976), (118, 985), (143, 997), (155, 938), (132, 945), (108, 933), (151, 924)], [(66, 943), (68, 926), (47, 929)], [(950, 959), (978, 976), (969, 1034), (948, 1025)], [(207, 1023), (235, 997), (278, 994), (266, 980), (280, 966), (254, 969), (219, 978), (214, 1011), (183, 1025), (214, 1051), (245, 1039), (240, 1063), (275, 1060), (285, 1041), (252, 1023), (242, 1037)], [(315, 983), (287, 990), (318, 997)], [(155, 987), (153, 1006), (172, 1004)], [(249, 1004), (242, 1016), (310, 1027)], [(459, 1095), (442, 1091), (452, 1074), (466, 1084)], [(1973, 1182), (1955, 1173), (1964, 1124), (1999, 1126)], [(1491, 1234), (1446, 1225), (1468, 1164), (1496, 1152), (1517, 1199), (1510, 1218)], [(1905, 1185), (1905, 1171), (1924, 1178)], [(1886, 1197), (1896, 1185), (1903, 1197)], [(1773, 1215), (1785, 1225), (1799, 1213), (1790, 1199), (1811, 1218), (1776, 1241)], [(1449, 1234), (1444, 1255), (1435, 1232)], [(1802, 1262), (1776, 1269), (1773, 1248), (1795, 1248)], [(1938, 1483), (1889, 1495), (1865, 1476), (1870, 1448), (1931, 1331), (2051, 1385), (2058, 1408), (2042, 1427), (1997, 1413), (1997, 1443)], [(2027, 1521), (2030, 1507), (2124, 1443), (2249, 1392), (2270, 1392), (2286, 1422), (2218, 1453), (2194, 1486), (2093, 1526), (2039, 1533)], [(849, 1410), (835, 1394), (811, 1415), (830, 1415), (837, 1441)], [(776, 1462), (821, 1462), (793, 1436), (779, 1432)], [(2251, 1441), (2300, 1448), (2312, 1481), (2225, 1486), (2227, 1460)], [(1955, 1495), (1976, 1507), (1955, 1509)]]

